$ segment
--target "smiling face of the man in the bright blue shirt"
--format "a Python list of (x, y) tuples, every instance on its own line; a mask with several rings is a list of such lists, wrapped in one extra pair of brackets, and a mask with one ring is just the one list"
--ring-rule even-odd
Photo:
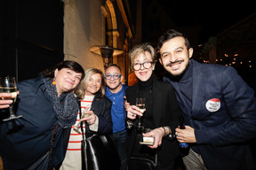
[[(120, 70), (116, 66), (109, 66), (106, 71), (105, 75), (121, 75)], [(119, 77), (118, 79), (114, 79), (112, 76), (110, 79), (106, 79), (106, 84), (108, 86), (108, 89), (112, 93), (116, 93), (122, 89), (121, 81), (123, 80), (123, 76)]]

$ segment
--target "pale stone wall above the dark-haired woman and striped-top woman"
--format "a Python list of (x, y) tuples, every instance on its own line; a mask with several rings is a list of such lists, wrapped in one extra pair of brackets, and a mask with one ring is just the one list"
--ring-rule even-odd
[(105, 44), (105, 17), (100, 1), (63, 0), (64, 9), (64, 59), (75, 60), (84, 70), (96, 67), (103, 70), (99, 55), (89, 49)]

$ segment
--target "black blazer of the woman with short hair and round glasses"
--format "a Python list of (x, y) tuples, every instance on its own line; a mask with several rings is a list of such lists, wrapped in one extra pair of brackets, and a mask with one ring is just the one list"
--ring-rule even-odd
[[(175, 128), (179, 125), (182, 112), (180, 111), (172, 85), (163, 81), (157, 81), (154, 78), (152, 93), (155, 128), (169, 126), (172, 129), (172, 133), (175, 133)], [(131, 105), (136, 104), (136, 97), (139, 97), (139, 83), (126, 89), (125, 96), (128, 103)], [(132, 130), (128, 144), (129, 155), (132, 153), (135, 136), (136, 132)], [(180, 154), (177, 140), (170, 140), (167, 137), (163, 138), (162, 145), (157, 150), (159, 163), (164, 169), (170, 169), (174, 159), (178, 158)]]

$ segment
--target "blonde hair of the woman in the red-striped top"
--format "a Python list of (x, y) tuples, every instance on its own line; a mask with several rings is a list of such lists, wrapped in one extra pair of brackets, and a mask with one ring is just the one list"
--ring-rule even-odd
[(94, 73), (100, 73), (100, 77), (101, 77), (101, 86), (100, 86), (100, 98), (104, 97), (105, 95), (105, 77), (104, 74), (102, 73), (102, 71), (98, 68), (88, 68), (87, 70), (85, 70), (85, 76), (84, 76), (84, 80), (81, 82), (81, 84), (79, 85), (78, 89), (76, 90), (76, 97), (83, 99), (84, 95), (85, 95), (85, 85), (88, 83), (88, 81), (90, 80), (90, 78), (92, 77), (92, 74)]

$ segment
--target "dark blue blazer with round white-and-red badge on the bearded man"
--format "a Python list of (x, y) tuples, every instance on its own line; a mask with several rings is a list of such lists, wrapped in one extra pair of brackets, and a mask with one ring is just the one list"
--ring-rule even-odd
[[(176, 90), (186, 124), (195, 128), (196, 142), (208, 169), (256, 169), (248, 141), (256, 137), (253, 90), (230, 66), (193, 63), (192, 112), (178, 83)], [(212, 100), (210, 100), (212, 99)]]

